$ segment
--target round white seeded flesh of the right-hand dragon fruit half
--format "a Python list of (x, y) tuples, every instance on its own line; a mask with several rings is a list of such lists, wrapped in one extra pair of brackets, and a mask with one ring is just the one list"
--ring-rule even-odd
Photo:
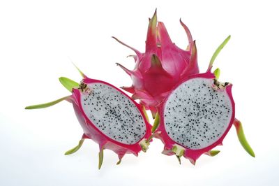
[(172, 92), (164, 110), (165, 129), (173, 141), (202, 149), (223, 136), (232, 122), (232, 101), (213, 80), (193, 78)]

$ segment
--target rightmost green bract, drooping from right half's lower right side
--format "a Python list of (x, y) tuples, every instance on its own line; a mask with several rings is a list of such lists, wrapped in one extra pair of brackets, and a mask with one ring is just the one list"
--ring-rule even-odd
[(248, 141), (246, 140), (241, 122), (239, 120), (235, 120), (234, 127), (236, 127), (237, 137), (239, 138), (239, 142), (241, 143), (244, 150), (246, 150), (246, 152), (248, 152), (248, 154), (252, 157), (255, 157), (254, 151), (252, 150)]

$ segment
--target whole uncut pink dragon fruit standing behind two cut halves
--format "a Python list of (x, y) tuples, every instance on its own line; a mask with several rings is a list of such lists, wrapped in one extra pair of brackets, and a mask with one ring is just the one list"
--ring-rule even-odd
[(158, 22), (157, 25), (156, 11), (149, 20), (144, 53), (115, 38), (119, 43), (134, 50), (136, 54), (133, 56), (135, 59), (133, 71), (118, 64), (133, 81), (132, 86), (122, 87), (122, 89), (133, 94), (133, 99), (140, 99), (140, 103), (151, 110), (153, 117), (157, 112), (156, 107), (181, 78), (199, 72), (195, 41), (188, 27), (181, 20), (180, 22), (188, 36), (187, 50), (181, 50), (172, 43), (163, 22)]

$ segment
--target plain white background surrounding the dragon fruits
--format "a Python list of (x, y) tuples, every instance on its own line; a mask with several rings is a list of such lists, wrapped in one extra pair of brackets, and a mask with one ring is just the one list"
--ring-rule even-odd
[[(98, 171), (98, 145), (85, 141), (64, 156), (82, 135), (67, 102), (24, 110), (68, 95), (58, 78), (79, 81), (75, 62), (91, 78), (117, 87), (130, 78), (133, 51), (144, 52), (148, 18), (158, 8), (172, 41), (186, 48), (181, 17), (197, 43), (205, 71), (218, 45), (231, 41), (216, 59), (221, 81), (234, 84), (236, 117), (255, 151), (250, 157), (232, 128), (216, 157), (186, 159), (160, 154), (155, 140), (139, 157), (121, 165), (105, 150)], [(278, 5), (276, 1), (1, 1), (0, 2), (0, 185), (279, 185)]]

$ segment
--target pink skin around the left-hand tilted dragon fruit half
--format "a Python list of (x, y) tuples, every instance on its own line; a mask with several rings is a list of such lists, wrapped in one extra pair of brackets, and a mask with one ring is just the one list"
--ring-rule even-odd
[[(111, 87), (114, 87), (109, 83), (100, 80), (93, 80), (87, 77), (85, 77), (84, 80), (82, 80), (82, 82), (85, 84), (103, 83)], [(130, 97), (127, 94), (119, 90), (117, 87), (114, 87), (114, 89), (118, 90), (119, 92), (121, 92), (122, 94), (124, 94), (130, 99)], [(84, 135), (82, 136), (82, 138), (92, 139), (93, 141), (99, 144), (100, 150), (110, 149), (114, 151), (119, 156), (119, 159), (121, 159), (123, 155), (125, 155), (126, 153), (131, 153), (137, 156), (138, 153), (142, 150), (139, 143), (135, 143), (133, 145), (126, 145), (123, 143), (119, 143), (118, 141), (114, 141), (112, 138), (105, 136), (97, 127), (95, 127), (95, 125), (89, 120), (89, 118), (86, 117), (84, 110), (82, 109), (81, 100), (80, 100), (81, 97), (80, 90), (73, 89), (73, 95), (70, 97), (71, 97), (71, 102), (73, 103), (73, 108), (75, 109), (75, 114), (77, 115), (77, 119), (79, 120), (82, 129), (84, 131)], [(133, 103), (135, 103), (137, 108), (140, 110), (140, 113), (144, 116), (144, 113), (142, 112), (142, 108), (140, 108), (140, 105), (135, 101), (133, 101)], [(151, 125), (149, 124), (149, 122), (147, 122), (145, 117), (144, 117), (144, 121), (146, 123), (146, 134), (143, 138), (147, 139), (149, 138), (149, 136), (151, 136)], [(142, 139), (140, 141), (142, 141)]]

